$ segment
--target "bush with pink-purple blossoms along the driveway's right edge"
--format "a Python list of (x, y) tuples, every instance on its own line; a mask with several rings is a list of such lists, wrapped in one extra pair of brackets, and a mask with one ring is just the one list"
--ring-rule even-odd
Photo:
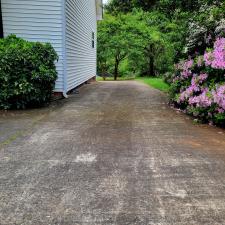
[(175, 106), (204, 122), (225, 126), (225, 38), (217, 38), (204, 55), (180, 62), (175, 71)]

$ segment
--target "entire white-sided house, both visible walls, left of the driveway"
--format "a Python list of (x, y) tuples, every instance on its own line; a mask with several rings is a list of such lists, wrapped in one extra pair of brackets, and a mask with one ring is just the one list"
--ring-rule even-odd
[[(102, 0), (0, 0), (2, 32), (49, 42), (59, 55), (55, 91), (64, 95), (96, 76)], [(0, 19), (1, 23), (1, 19)]]

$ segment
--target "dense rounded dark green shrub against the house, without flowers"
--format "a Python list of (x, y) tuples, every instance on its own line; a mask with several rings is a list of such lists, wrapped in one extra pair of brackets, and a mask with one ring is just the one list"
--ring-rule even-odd
[(48, 103), (57, 79), (57, 53), (50, 44), (15, 35), (0, 40), (0, 108), (23, 109)]

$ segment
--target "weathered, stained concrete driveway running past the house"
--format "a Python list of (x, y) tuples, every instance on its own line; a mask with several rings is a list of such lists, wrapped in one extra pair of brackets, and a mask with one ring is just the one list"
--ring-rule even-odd
[(0, 115), (1, 225), (223, 225), (225, 134), (135, 81)]

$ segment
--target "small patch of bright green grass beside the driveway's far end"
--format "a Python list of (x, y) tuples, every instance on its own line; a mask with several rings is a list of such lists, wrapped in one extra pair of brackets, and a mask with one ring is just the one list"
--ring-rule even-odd
[(153, 88), (156, 88), (163, 92), (169, 91), (169, 85), (163, 81), (161, 78), (150, 78), (150, 77), (138, 77), (137, 81), (143, 82)]

